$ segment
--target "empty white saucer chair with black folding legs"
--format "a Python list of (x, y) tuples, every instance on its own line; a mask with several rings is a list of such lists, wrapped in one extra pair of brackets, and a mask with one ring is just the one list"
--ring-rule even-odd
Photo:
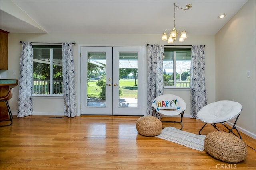
[[(199, 120), (204, 122), (204, 126), (200, 129), (200, 132), (205, 127), (206, 124), (211, 124), (215, 129), (220, 131), (216, 124), (221, 123), (228, 129), (228, 133), (232, 132), (236, 135), (232, 130), (236, 129), (236, 122), (238, 117), (242, 111), (242, 105), (238, 102), (229, 101), (229, 100), (221, 100), (217, 102), (213, 102), (204, 106), (200, 111), (197, 113), (197, 117)], [(236, 121), (233, 127), (230, 129), (228, 128), (224, 122), (234, 119), (236, 117)], [(242, 139), (240, 133), (236, 129), (240, 139)], [(201, 135), (201, 134), (200, 134)], [(237, 136), (237, 135), (236, 135)]]

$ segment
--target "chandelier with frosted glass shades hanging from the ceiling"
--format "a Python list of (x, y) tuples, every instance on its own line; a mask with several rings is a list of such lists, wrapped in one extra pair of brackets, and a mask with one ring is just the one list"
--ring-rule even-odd
[[(174, 5), (173, 5), (173, 7), (174, 7), (174, 27), (173, 27), (172, 31), (171, 31), (170, 29), (164, 30), (164, 34), (163, 34), (163, 36), (162, 36), (162, 40), (163, 40), (163, 41), (166, 41), (166, 40), (167, 40), (166, 31), (169, 31), (169, 34), (170, 34), (170, 35), (169, 35), (169, 38), (168, 38), (168, 43), (173, 43), (174, 41), (176, 41), (176, 37), (177, 37), (179, 34), (180, 34), (179, 42), (183, 42), (184, 39), (187, 38), (187, 33), (186, 33), (185, 29), (183, 29), (183, 31), (179, 31), (179, 30), (177, 30), (176, 27), (175, 27), (175, 7), (177, 7), (177, 8), (180, 8), (180, 7), (176, 6), (175, 3), (174, 3)], [(182, 10), (188, 10), (188, 9), (190, 9), (191, 7), (192, 7), (192, 4), (187, 4), (187, 5), (186, 5), (186, 8), (180, 8), (180, 9), (182, 9)]]

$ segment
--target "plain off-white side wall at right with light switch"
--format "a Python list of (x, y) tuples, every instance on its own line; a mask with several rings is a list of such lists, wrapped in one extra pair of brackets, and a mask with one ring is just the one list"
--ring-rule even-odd
[[(256, 1), (248, 1), (215, 35), (216, 100), (242, 104), (237, 126), (256, 137)], [(251, 76), (247, 77), (247, 71)], [(234, 123), (234, 120), (231, 121)]]

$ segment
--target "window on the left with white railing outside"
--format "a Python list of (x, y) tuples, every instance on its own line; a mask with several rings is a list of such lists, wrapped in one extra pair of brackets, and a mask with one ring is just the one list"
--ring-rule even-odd
[(33, 45), (33, 94), (62, 94), (62, 46)]

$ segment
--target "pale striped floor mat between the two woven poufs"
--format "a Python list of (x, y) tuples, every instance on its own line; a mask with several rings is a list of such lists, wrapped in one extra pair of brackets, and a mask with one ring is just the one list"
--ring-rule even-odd
[(206, 136), (205, 135), (196, 135), (194, 133), (181, 131), (179, 129), (176, 129), (175, 127), (166, 127), (156, 137), (165, 139), (167, 141), (175, 142), (180, 145), (190, 147), (192, 149), (203, 151), (204, 150), (204, 138)]

